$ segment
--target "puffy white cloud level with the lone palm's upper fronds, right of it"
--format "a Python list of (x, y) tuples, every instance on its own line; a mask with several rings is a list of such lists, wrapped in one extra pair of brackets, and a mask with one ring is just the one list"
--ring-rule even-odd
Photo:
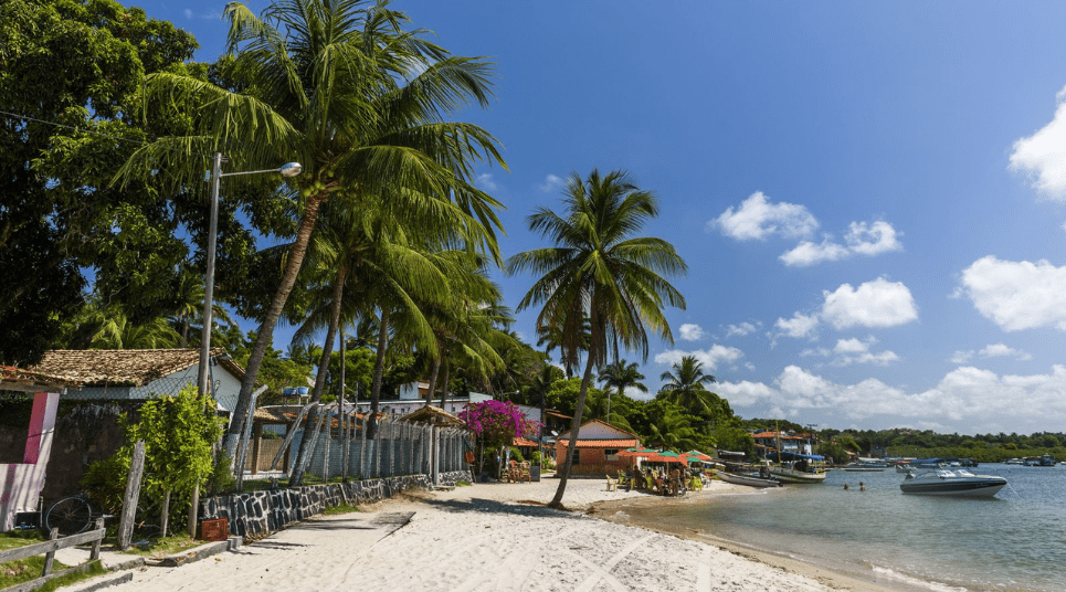
[(722, 234), (738, 241), (762, 241), (772, 234), (799, 239), (809, 236), (817, 230), (817, 220), (805, 207), (788, 202), (770, 203), (761, 191), (752, 193), (736, 210), (729, 207), (707, 223), (708, 229), (720, 229)]

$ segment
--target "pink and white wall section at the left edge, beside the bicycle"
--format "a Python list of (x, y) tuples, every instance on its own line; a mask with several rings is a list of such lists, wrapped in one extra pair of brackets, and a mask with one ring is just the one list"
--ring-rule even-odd
[(21, 464), (0, 465), (0, 531), (14, 528), (14, 515), (33, 511), (44, 488), (44, 472), (52, 453), (52, 433), (59, 393), (33, 395), (33, 413)]

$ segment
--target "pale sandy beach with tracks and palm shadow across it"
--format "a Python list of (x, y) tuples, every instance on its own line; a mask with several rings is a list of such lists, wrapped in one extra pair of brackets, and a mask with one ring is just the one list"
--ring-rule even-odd
[[(146, 568), (114, 590), (885, 590), (725, 541), (694, 540), (695, 532), (675, 536), (618, 524), (625, 521), (624, 512), (612, 504), (685, 499), (606, 491), (604, 479), (571, 479), (563, 499), (571, 511), (543, 507), (558, 484), (548, 478), (403, 495), (363, 512), (295, 525), (218, 558)], [(713, 482), (690, 496), (743, 489)]]

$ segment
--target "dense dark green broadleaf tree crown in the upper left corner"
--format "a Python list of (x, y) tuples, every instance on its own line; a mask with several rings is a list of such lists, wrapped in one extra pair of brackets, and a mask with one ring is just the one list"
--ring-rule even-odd
[(110, 180), (136, 146), (115, 138), (180, 127), (130, 114), (147, 73), (204, 72), (184, 64), (196, 47), (171, 23), (112, 0), (0, 3), (0, 105), (36, 119), (0, 119), (0, 267), (20, 278), (0, 286), (0, 361), (33, 363), (65, 346), (56, 340), (81, 303), (83, 271), (134, 324), (170, 306), (188, 255), (177, 229), (202, 216), (199, 199)]

